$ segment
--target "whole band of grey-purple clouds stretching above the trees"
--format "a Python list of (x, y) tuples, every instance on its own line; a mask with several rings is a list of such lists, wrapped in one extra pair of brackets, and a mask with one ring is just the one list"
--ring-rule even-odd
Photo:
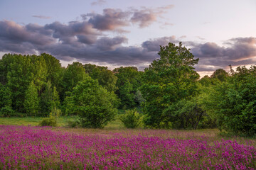
[[(104, 1), (97, 1), (104, 2)], [(162, 13), (173, 6), (161, 8), (140, 8), (130, 11), (106, 8), (102, 14), (87, 13), (82, 21), (64, 24), (54, 22), (39, 26), (29, 23), (25, 26), (14, 21), (0, 21), (0, 52), (35, 54), (48, 52), (59, 60), (97, 62), (114, 66), (133, 65), (141, 69), (159, 56), (159, 45), (178, 43), (175, 36), (150, 39), (140, 46), (125, 46), (124, 35), (109, 37), (109, 31), (125, 32), (125, 27), (137, 25), (145, 28), (157, 21)], [(34, 16), (41, 18), (39, 16)], [(256, 38), (232, 38), (224, 46), (215, 42), (183, 42), (200, 58), (196, 69), (201, 72), (244, 64), (255, 64)]]

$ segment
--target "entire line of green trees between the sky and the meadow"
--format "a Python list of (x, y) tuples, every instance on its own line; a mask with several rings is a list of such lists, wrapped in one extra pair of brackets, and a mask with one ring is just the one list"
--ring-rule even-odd
[(0, 60), (1, 116), (79, 115), (87, 128), (103, 128), (117, 108), (139, 108), (146, 128), (219, 128), (235, 135), (256, 132), (256, 66), (217, 69), (199, 79), (195, 59), (181, 43), (160, 46), (144, 72), (109, 70), (55, 57), (6, 54)]

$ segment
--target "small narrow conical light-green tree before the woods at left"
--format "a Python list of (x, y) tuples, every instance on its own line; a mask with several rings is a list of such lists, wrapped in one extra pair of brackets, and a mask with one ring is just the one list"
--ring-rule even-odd
[(36, 89), (36, 85), (33, 84), (33, 81), (31, 81), (31, 84), (28, 86), (28, 89), (25, 93), (24, 108), (26, 109), (26, 113), (31, 113), (32, 115), (38, 113), (38, 106), (38, 91)]

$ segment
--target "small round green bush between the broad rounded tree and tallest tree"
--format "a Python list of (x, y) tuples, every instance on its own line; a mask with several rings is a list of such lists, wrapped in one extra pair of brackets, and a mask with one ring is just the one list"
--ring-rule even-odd
[(125, 111), (124, 115), (119, 116), (119, 119), (126, 128), (138, 128), (141, 124), (141, 117), (142, 116), (134, 109)]

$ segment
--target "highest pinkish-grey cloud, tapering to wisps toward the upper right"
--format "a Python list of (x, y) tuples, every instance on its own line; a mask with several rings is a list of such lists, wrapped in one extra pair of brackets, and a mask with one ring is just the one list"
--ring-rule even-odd
[[(98, 2), (98, 1), (97, 1)], [(140, 9), (130, 8), (129, 11), (122, 11), (118, 8), (105, 8), (103, 13), (85, 13), (82, 18), (91, 23), (93, 28), (97, 30), (111, 30), (119, 33), (126, 33), (124, 27), (130, 26), (131, 23), (138, 24), (139, 28), (145, 28), (157, 21), (157, 18), (162, 17), (173, 5), (159, 7), (159, 8), (146, 8)], [(171, 23), (165, 23), (172, 25)]]

